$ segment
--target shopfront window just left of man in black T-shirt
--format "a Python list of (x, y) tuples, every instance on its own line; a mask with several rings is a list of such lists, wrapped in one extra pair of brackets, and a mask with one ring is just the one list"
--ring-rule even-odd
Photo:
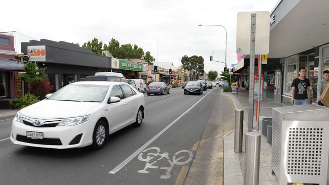
[(286, 59), (286, 73), (285, 73), (284, 92), (290, 94), (292, 91), (292, 82), (297, 78), (297, 56)]

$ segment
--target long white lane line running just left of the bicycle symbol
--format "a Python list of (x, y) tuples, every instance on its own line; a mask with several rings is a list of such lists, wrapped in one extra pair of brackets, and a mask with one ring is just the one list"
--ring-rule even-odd
[[(210, 92), (212, 92), (213, 90), (211, 90)], [(207, 95), (210, 94), (210, 92), (208, 92)], [(126, 166), (132, 159), (134, 159), (139, 153), (141, 153), (147, 146), (149, 146), (152, 142), (154, 142), (156, 140), (156, 138), (158, 138), (163, 132), (165, 132), (166, 130), (168, 130), (171, 126), (173, 126), (173, 124), (175, 124), (179, 119), (181, 119), (186, 113), (188, 113), (194, 106), (196, 106), (196, 104), (198, 104), (199, 102), (202, 101), (202, 99), (204, 99), (205, 97), (207, 97), (207, 95), (205, 95), (204, 97), (202, 97), (199, 101), (197, 101), (194, 105), (192, 105), (192, 107), (190, 107), (187, 111), (185, 111), (182, 115), (180, 115), (178, 118), (176, 118), (173, 122), (171, 122), (168, 126), (166, 126), (166, 128), (163, 128), (163, 130), (161, 130), (159, 133), (157, 133), (155, 136), (153, 136), (148, 142), (146, 142), (141, 148), (137, 149), (132, 155), (130, 155), (127, 159), (125, 159), (124, 161), (122, 161), (119, 165), (117, 165), (114, 169), (112, 169), (110, 172), (110, 174), (114, 174), (116, 172), (118, 172), (122, 167)]]

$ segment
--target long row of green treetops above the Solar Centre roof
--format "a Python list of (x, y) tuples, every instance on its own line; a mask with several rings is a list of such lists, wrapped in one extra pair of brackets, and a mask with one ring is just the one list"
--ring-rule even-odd
[(85, 42), (82, 47), (90, 49), (91, 52), (97, 55), (102, 55), (102, 51), (107, 50), (114, 58), (118, 59), (140, 59), (144, 56), (148, 64), (153, 64), (153, 61), (155, 61), (149, 51), (144, 53), (144, 50), (138, 47), (137, 44), (127, 43), (120, 45), (120, 42), (115, 38), (112, 38), (108, 44), (105, 43), (104, 45), (102, 41), (98, 41), (98, 38), (93, 38), (91, 41)]

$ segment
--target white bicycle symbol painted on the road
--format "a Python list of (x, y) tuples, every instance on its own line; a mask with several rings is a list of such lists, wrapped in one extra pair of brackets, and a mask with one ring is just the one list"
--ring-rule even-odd
[[(181, 157), (178, 157), (181, 156)], [(149, 173), (146, 169), (153, 168), (157, 169), (159, 166), (156, 166), (156, 162), (160, 161), (161, 159), (167, 159), (170, 164), (170, 167), (162, 166), (160, 169), (167, 170), (166, 175), (161, 175), (160, 178), (167, 179), (171, 177), (171, 170), (173, 169), (174, 165), (183, 165), (189, 163), (193, 158), (193, 154), (189, 150), (181, 150), (174, 154), (173, 159), (169, 158), (169, 153), (164, 152), (160, 153), (160, 149), (158, 147), (151, 147), (145, 149), (138, 155), (138, 159), (140, 161), (146, 161), (145, 167), (142, 170), (138, 170), (138, 173)]]

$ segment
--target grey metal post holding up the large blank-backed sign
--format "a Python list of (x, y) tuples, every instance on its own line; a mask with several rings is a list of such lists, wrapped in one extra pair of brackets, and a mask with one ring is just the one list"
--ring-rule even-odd
[(254, 125), (254, 72), (255, 72), (255, 35), (256, 14), (251, 15), (250, 72), (249, 72), (249, 109), (248, 131), (253, 131)]

